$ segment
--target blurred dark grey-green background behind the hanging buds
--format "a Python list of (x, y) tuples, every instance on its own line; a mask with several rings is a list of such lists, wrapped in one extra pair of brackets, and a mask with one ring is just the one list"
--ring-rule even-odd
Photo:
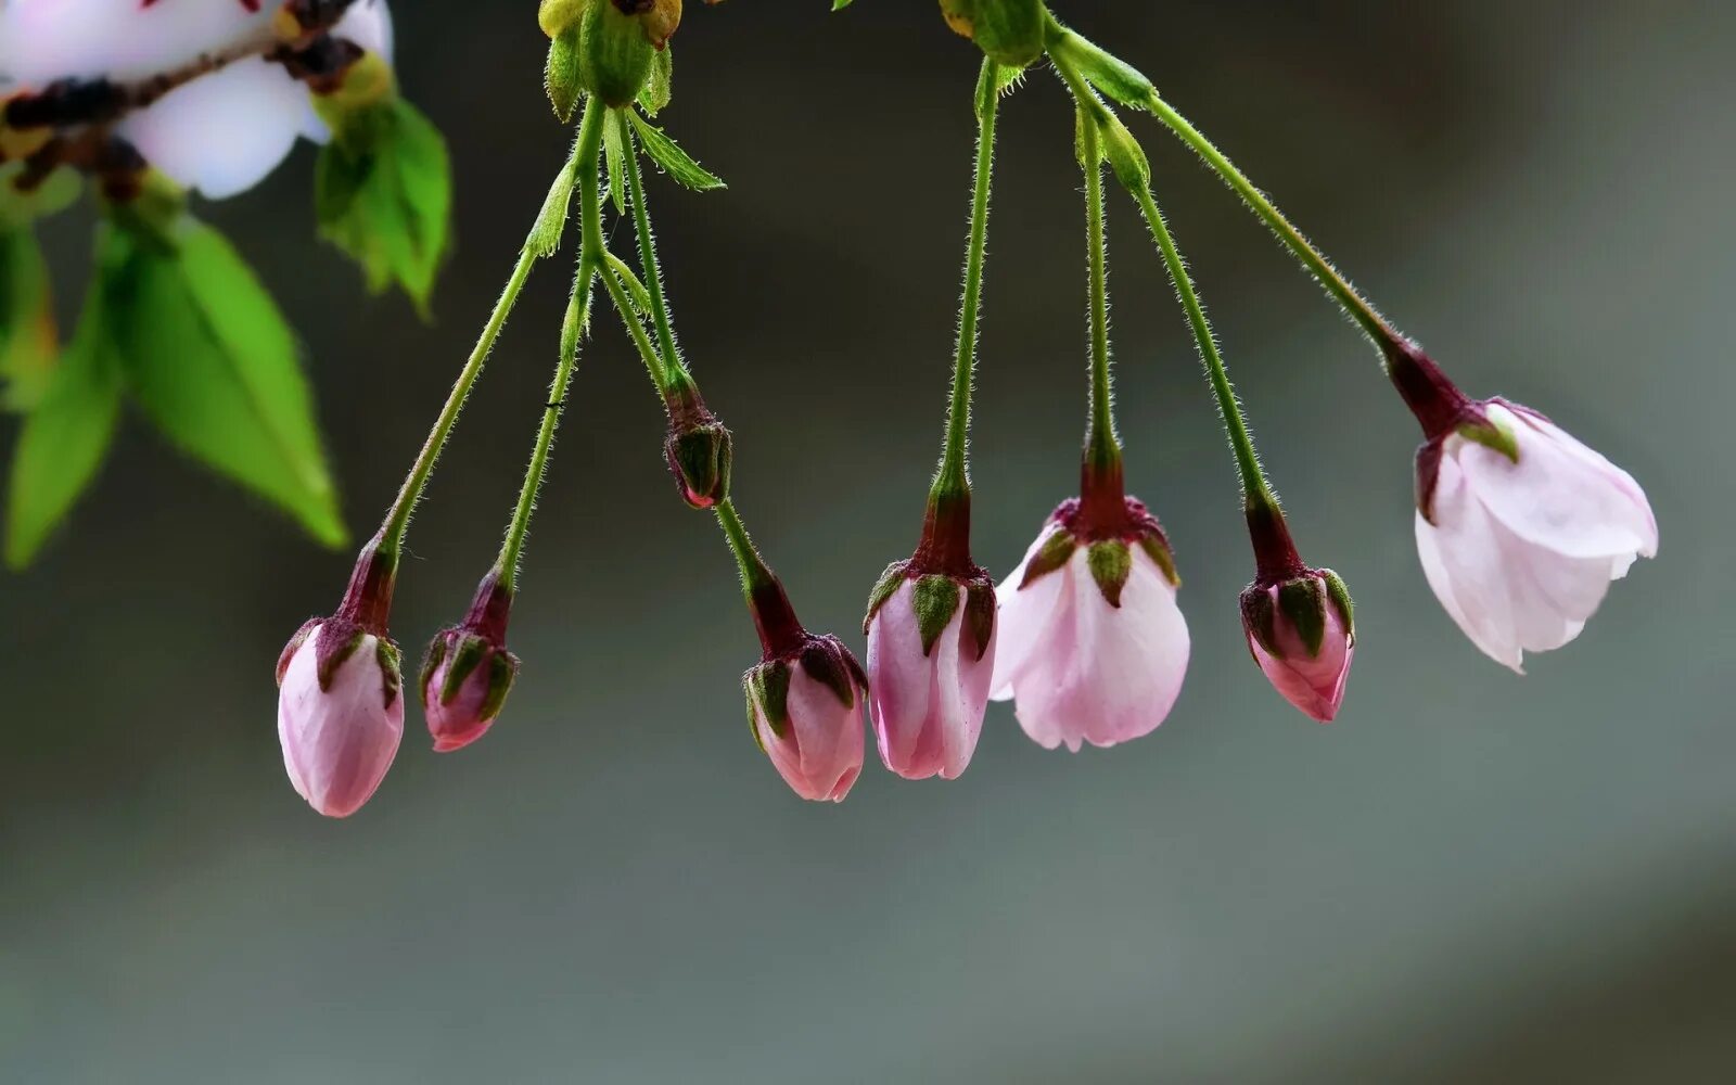
[[(665, 118), (731, 187), (651, 200), (743, 512), (809, 625), (859, 644), (939, 446), (976, 61), (932, 3), (826, 7), (689, 10)], [(1358, 595), (1337, 724), (1248, 661), (1231, 460), (1125, 200), (1128, 477), (1175, 542), (1194, 661), (1170, 720), (1113, 752), (1047, 753), (998, 705), (957, 783), (875, 764), (842, 807), (793, 799), (741, 720), (757, 648), (729, 556), (674, 498), (658, 404), (602, 321), (503, 720), (436, 757), (411, 710), (373, 804), (323, 821), (283, 776), (271, 667), (349, 556), (128, 425), (38, 568), (0, 582), (0, 1078), (1731, 1080), (1736, 12), (1055, 7), (1467, 389), (1646, 484), (1663, 556), (1580, 642), (1517, 679), (1458, 634), (1417, 568), (1415, 424), (1371, 352), (1141, 123), (1304, 552)], [(398, 30), (457, 156), (436, 323), (312, 240), (307, 149), (203, 210), (306, 340), (363, 535), (568, 146), (529, 3), (399, 3)], [(1002, 118), (974, 443), (996, 571), (1073, 491), (1085, 413), (1068, 108), (1038, 71)], [(71, 281), (85, 224), (52, 241)], [(493, 556), (568, 267), (533, 279), (417, 521), (406, 654)]]

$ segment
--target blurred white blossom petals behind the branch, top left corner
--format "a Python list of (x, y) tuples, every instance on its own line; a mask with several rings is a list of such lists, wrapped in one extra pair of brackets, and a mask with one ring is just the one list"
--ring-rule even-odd
[[(64, 78), (135, 82), (194, 68), (201, 57), (269, 38), (279, 7), (241, 0), (9, 0), (0, 3), (0, 92)], [(358, 0), (332, 35), (391, 59), (385, 0)], [(262, 56), (182, 82), (122, 118), (116, 134), (170, 179), (212, 200), (264, 181), (299, 137), (330, 139), (309, 87)]]

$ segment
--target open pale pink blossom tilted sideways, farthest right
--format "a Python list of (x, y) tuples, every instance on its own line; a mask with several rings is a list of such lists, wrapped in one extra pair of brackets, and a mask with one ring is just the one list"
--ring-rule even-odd
[(1429, 587), (1491, 660), (1573, 641), (1613, 580), (1658, 552), (1634, 477), (1524, 406), (1481, 415), (1417, 457), (1417, 552)]

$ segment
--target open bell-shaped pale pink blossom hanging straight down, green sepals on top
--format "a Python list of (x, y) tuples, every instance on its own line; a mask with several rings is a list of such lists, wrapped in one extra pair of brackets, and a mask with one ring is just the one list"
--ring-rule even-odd
[(1049, 750), (1149, 734), (1187, 674), (1168, 540), (1132, 498), (1120, 523), (1104, 519), (1066, 502), (998, 589), (991, 696), (1012, 698), (1019, 726)]

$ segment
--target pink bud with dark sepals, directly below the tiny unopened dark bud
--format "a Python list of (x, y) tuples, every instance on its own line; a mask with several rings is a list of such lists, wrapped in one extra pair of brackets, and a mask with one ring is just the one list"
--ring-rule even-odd
[(741, 675), (748, 726), (797, 795), (844, 802), (863, 769), (868, 679), (837, 637), (802, 637)]

